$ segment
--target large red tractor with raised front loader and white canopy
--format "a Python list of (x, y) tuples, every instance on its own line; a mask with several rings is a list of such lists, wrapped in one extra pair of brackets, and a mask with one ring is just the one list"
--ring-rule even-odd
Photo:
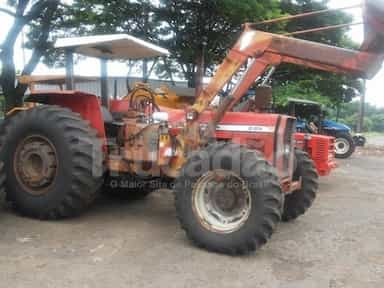
[[(295, 149), (295, 118), (229, 112), (230, 107), (280, 63), (373, 76), (383, 61), (384, 23), (378, 11), (384, 12), (384, 5), (378, 2), (367, 1), (370, 29), (362, 51), (245, 25), (209, 85), (185, 111), (161, 109), (152, 97), (139, 94), (110, 102), (105, 73), (102, 105), (96, 96), (77, 91), (33, 92), (27, 100), (37, 105), (11, 111), (0, 130), (8, 200), (26, 216), (56, 219), (82, 212), (103, 183), (145, 196), (156, 188), (154, 181), (173, 182), (177, 217), (198, 246), (227, 254), (256, 250), (281, 219), (295, 219), (311, 206), (318, 176), (308, 155)], [(100, 56), (103, 72), (105, 59), (134, 49), (133, 42), (156, 50), (128, 36), (109, 40), (61, 47)], [(230, 95), (207, 110), (247, 62)], [(71, 77), (67, 84), (70, 89)], [(114, 180), (123, 185), (109, 185)]]

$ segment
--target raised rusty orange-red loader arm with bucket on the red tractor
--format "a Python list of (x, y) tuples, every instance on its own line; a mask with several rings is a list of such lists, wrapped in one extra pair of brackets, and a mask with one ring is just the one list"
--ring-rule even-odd
[(334, 47), (316, 42), (295, 39), (256, 30), (254, 24), (245, 24), (240, 38), (229, 51), (208, 86), (197, 97), (187, 113), (185, 138), (187, 146), (201, 143), (198, 119), (213, 98), (230, 81), (239, 69), (252, 59), (238, 85), (231, 91), (230, 101), (223, 101), (211, 126), (217, 125), (225, 112), (236, 103), (255, 79), (270, 66), (281, 63), (302, 65), (334, 73), (348, 73), (362, 78), (372, 78), (384, 60), (384, 0), (366, 0), (365, 19), (368, 37), (360, 51)]

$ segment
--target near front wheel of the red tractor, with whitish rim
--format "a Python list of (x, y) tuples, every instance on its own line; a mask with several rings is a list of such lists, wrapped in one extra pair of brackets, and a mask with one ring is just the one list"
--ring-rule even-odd
[(257, 152), (212, 144), (189, 157), (175, 183), (177, 217), (199, 247), (246, 254), (261, 247), (281, 218), (275, 170)]

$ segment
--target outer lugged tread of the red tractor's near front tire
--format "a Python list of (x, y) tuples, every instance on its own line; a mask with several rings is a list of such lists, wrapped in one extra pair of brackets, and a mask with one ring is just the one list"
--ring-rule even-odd
[[(196, 160), (196, 157), (204, 159), (206, 155), (214, 157), (218, 153), (223, 151), (231, 151), (232, 155), (240, 155), (242, 165), (245, 167), (254, 167), (255, 171), (259, 171), (256, 175), (249, 177), (249, 182), (258, 183), (260, 179), (263, 179), (265, 188), (262, 189), (263, 193), (263, 203), (265, 207), (261, 216), (260, 225), (254, 227), (254, 232), (252, 236), (248, 239), (243, 239), (240, 243), (233, 243), (232, 246), (221, 246), (219, 243), (207, 243), (201, 240), (198, 233), (196, 233), (195, 228), (188, 224), (188, 221), (185, 216), (184, 211), (184, 201), (185, 197), (190, 197), (190, 195), (185, 195), (186, 183), (190, 183), (196, 179), (190, 179), (187, 177), (185, 171), (188, 170), (189, 165), (191, 165), (192, 160)], [(246, 157), (244, 157), (246, 156)], [(268, 239), (271, 237), (273, 231), (275, 230), (278, 222), (281, 219), (281, 210), (283, 205), (283, 195), (281, 192), (279, 179), (273, 169), (270, 168), (270, 165), (267, 161), (261, 158), (259, 153), (255, 151), (248, 150), (243, 146), (233, 144), (233, 143), (214, 143), (209, 145), (206, 149), (201, 151), (193, 152), (193, 156), (187, 159), (186, 164), (182, 168), (180, 177), (176, 180), (175, 183), (175, 206), (176, 206), (176, 215), (177, 219), (180, 222), (181, 228), (186, 232), (187, 237), (194, 242), (198, 247), (205, 248), (207, 250), (224, 253), (229, 255), (242, 255), (248, 254), (252, 251), (259, 249), (263, 244), (265, 244)], [(258, 191), (260, 193), (261, 191)], [(251, 191), (251, 193), (256, 193)]]

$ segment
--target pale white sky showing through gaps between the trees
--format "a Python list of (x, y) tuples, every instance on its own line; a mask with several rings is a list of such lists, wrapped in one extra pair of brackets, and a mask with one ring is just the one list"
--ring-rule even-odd
[[(330, 0), (329, 6), (331, 8), (341, 8), (347, 6), (353, 6), (355, 4), (360, 4), (362, 0)], [(6, 0), (0, 0), (0, 7), (4, 6)], [(352, 14), (355, 18), (355, 22), (362, 21), (361, 17), (361, 9), (349, 9), (346, 12)], [(4, 39), (4, 36), (8, 32), (10, 26), (12, 25), (12, 18), (6, 16), (3, 13), (0, 13), (0, 43)], [(353, 26), (351, 28), (350, 37), (357, 43), (361, 43), (363, 40), (363, 26)], [(21, 38), (21, 37), (20, 37)], [(144, 39), (145, 40), (145, 39)], [(15, 63), (18, 69), (23, 67), (24, 58), (28, 60), (30, 56), (30, 52), (25, 52), (25, 57), (23, 50), (21, 49), (22, 41), (18, 39), (18, 43), (16, 45), (15, 52)], [(99, 69), (95, 69), (95, 67), (99, 67), (99, 61), (94, 58), (87, 58), (84, 61), (81, 61), (76, 64), (75, 74), (76, 75), (84, 75), (84, 76), (98, 76)], [(127, 66), (123, 63), (119, 62), (109, 62), (108, 64), (109, 74), (112, 76), (125, 76), (127, 73)], [(34, 74), (64, 74), (65, 71), (63, 69), (50, 69), (43, 64), (39, 64)], [(384, 67), (381, 71), (376, 75), (376, 77), (372, 80), (367, 81), (367, 93), (366, 93), (366, 101), (376, 105), (378, 107), (384, 107), (384, 95), (382, 95), (384, 83)]]

